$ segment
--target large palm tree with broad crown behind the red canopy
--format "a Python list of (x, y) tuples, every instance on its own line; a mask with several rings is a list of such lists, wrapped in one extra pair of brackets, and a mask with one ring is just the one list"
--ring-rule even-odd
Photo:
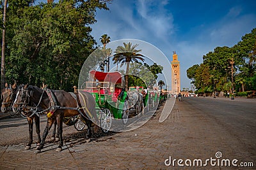
[(116, 51), (115, 51), (115, 55), (113, 57), (113, 60), (118, 60), (118, 62), (121, 63), (121, 67), (123, 66), (123, 64), (126, 64), (126, 74), (125, 74), (125, 91), (129, 90), (128, 87), (128, 75), (129, 75), (129, 66), (130, 66), (130, 62), (139, 62), (139, 60), (141, 60), (142, 62), (144, 62), (145, 59), (143, 59), (142, 57), (144, 57), (144, 55), (138, 53), (141, 52), (141, 50), (136, 50), (135, 48), (138, 46), (138, 44), (136, 45), (132, 45), (131, 42), (129, 43), (124, 43), (124, 46), (117, 46), (116, 47)]

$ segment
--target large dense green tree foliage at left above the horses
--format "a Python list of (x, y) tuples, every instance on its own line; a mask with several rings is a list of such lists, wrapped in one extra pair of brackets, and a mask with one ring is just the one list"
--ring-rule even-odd
[(6, 81), (71, 91), (84, 60), (93, 52), (90, 24), (108, 1), (8, 1)]

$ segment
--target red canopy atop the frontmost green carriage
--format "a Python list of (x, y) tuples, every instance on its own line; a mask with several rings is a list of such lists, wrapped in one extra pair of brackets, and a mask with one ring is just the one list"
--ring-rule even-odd
[(101, 71), (92, 70), (90, 71), (90, 77), (96, 78), (99, 81), (108, 81), (111, 83), (120, 83), (122, 84), (122, 74), (118, 71), (105, 73)]

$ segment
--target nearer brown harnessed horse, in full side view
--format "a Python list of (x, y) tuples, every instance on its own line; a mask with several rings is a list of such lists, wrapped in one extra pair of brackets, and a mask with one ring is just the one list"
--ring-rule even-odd
[[(83, 101), (80, 101), (78, 94), (76, 94), (77, 99), (75, 99), (70, 93), (63, 90), (52, 90), (52, 94), (54, 95), (56, 104), (58, 106), (52, 106), (51, 99), (49, 99), (49, 96), (44, 90), (35, 86), (25, 85), (24, 87), (20, 87), (18, 89), (16, 99), (13, 103), (14, 112), (24, 110), (24, 108), (27, 108), (31, 102), (36, 104), (35, 108), (40, 106), (44, 111), (51, 110), (53, 112), (53, 115), (47, 118), (47, 125), (42, 135), (42, 141), (40, 146), (36, 148), (38, 150), (36, 153), (39, 153), (40, 150), (44, 148), (45, 138), (47, 137), (47, 134), (55, 121), (58, 125), (57, 133), (60, 136), (60, 145), (56, 151), (60, 152), (63, 146), (63, 117), (74, 117), (81, 114), (85, 118), (86, 125), (88, 126), (86, 139), (90, 139), (90, 136), (92, 136), (90, 129), (92, 127), (92, 120), (87, 117), (82, 108), (85, 108), (87, 114), (92, 115), (91, 118), (97, 118), (95, 110), (95, 99), (93, 98), (92, 94), (88, 92), (79, 94), (80, 96), (83, 95)], [(83, 107), (81, 105), (83, 105)]]

